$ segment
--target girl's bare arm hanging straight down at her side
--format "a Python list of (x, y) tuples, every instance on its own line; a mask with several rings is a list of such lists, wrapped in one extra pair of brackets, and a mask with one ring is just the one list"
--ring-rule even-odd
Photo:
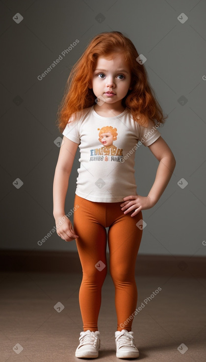
[(53, 184), (53, 215), (57, 226), (57, 234), (65, 241), (78, 238), (71, 221), (65, 216), (65, 198), (68, 189), (69, 177), (74, 162), (78, 144), (63, 136), (59, 150), (59, 158), (55, 169)]

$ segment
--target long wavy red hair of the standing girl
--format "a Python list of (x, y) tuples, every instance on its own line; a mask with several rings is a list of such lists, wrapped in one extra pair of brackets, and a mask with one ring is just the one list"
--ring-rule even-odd
[(73, 66), (57, 113), (57, 125), (60, 132), (63, 132), (68, 121), (71, 121), (72, 114), (72, 119), (75, 120), (77, 112), (80, 112), (78, 116), (81, 116), (83, 109), (96, 104), (96, 96), (88, 86), (91, 84), (98, 57), (108, 57), (118, 52), (124, 54), (131, 72), (132, 89), (128, 90), (122, 99), (122, 106), (131, 113), (134, 121), (143, 126), (148, 125), (148, 119), (153, 121), (154, 125), (165, 122), (168, 115), (163, 116), (162, 109), (149, 84), (144, 64), (136, 60), (139, 54), (134, 44), (122, 33), (114, 31), (94, 36)]

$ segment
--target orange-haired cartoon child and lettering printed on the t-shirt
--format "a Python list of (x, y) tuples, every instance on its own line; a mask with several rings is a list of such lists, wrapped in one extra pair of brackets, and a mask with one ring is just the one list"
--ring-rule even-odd
[(118, 148), (113, 145), (113, 142), (117, 140), (117, 128), (112, 126), (105, 126), (97, 128), (99, 131), (99, 142), (103, 145), (99, 148), (90, 149), (89, 161), (116, 161), (122, 162), (122, 148)]

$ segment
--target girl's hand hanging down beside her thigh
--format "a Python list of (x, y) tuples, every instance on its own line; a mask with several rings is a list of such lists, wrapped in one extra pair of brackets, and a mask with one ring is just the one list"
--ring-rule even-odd
[(75, 234), (71, 221), (65, 215), (55, 218), (57, 234), (65, 241), (72, 241), (79, 236)]

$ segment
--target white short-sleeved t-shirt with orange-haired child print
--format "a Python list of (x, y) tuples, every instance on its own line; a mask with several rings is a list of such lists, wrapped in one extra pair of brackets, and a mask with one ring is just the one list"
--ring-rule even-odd
[(135, 150), (141, 143), (156, 141), (161, 136), (158, 127), (151, 120), (147, 128), (139, 125), (127, 109), (115, 117), (97, 114), (94, 106), (84, 109), (62, 132), (80, 148), (75, 193), (95, 202), (120, 202), (137, 195)]

